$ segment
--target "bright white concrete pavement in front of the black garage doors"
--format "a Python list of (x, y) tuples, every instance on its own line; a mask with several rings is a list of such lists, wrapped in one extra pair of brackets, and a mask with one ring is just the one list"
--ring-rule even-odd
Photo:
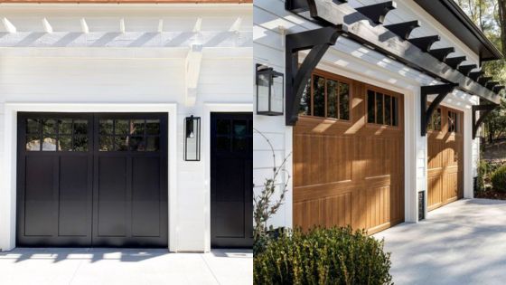
[(250, 251), (16, 249), (0, 252), (2, 285), (252, 284)]

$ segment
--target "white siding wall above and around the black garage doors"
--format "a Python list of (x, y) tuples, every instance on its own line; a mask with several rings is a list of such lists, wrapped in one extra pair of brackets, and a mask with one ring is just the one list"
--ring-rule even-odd
[[(176, 106), (177, 114), (169, 114), (169, 120), (177, 118), (175, 128), (169, 129), (169, 141), (176, 137), (176, 157), (169, 157), (175, 161), (175, 175), (169, 175), (169, 184), (175, 185), (175, 191), (169, 193), (169, 197), (175, 199), (169, 201), (170, 249), (174, 252), (209, 251), (210, 181), (205, 170), (209, 161), (204, 158), (207, 154), (203, 147), (209, 144), (203, 140), (209, 121), (204, 109), (205, 104), (210, 103), (251, 104), (251, 5), (176, 5), (177, 11), (171, 10), (170, 5), (6, 6), (9, 9), (0, 12), (0, 16), (15, 24), (19, 33), (7, 34), (9, 39), (0, 40), (0, 249), (11, 249), (15, 236), (14, 229), (9, 228), (14, 225), (14, 212), (2, 209), (3, 205), (14, 206), (5, 199), (12, 194), (12, 187), (3, 182), (4, 176), (11, 171), (15, 175), (15, 169), (3, 155), (5, 151), (15, 152), (15, 149), (4, 147), (5, 141), (12, 139), (11, 133), (3, 131), (7, 124), (3, 116), (6, 106), (75, 103), (73, 106), (130, 104), (132, 109), (136, 106), (142, 109), (143, 104)], [(43, 16), (53, 25), (54, 33), (45, 33), (28, 47), (9, 47), (13, 43), (23, 43), (23, 39), (15, 39), (16, 34), (40, 32)], [(86, 17), (89, 34), (80, 31), (81, 17)], [(90, 38), (118, 31), (119, 20), (123, 17), (126, 33), (103, 46), (89, 47), (96, 41)], [(201, 33), (193, 33), (198, 18), (201, 18)], [(237, 25), (239, 29), (230, 32), (238, 18), (242, 20)], [(157, 33), (160, 19), (164, 19), (163, 33)], [(61, 37), (61, 33), (69, 31), (87, 40), (70, 41), (73, 47), (49, 44), (53, 42), (48, 39)], [(159, 41), (135, 41), (139, 34), (145, 33), (156, 33)], [(171, 41), (178, 35), (183, 40)], [(162, 42), (164, 37), (167, 42)], [(202, 60), (193, 104), (188, 103), (186, 95), (187, 54), (192, 44), (199, 42), (203, 43)], [(183, 161), (183, 119), (190, 115), (202, 117), (200, 162)], [(2, 169), (3, 166), (11, 169)], [(169, 169), (171, 171), (173, 169)]]

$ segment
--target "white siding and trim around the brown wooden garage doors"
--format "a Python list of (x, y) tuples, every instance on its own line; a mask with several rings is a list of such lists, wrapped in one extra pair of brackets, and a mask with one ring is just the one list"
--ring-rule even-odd
[[(382, 1), (349, 1), (348, 5), (361, 6), (373, 2)], [(346, 5), (346, 4), (343, 4)], [(255, 62), (273, 67), (276, 71), (285, 71), (285, 46), (283, 33), (298, 33), (306, 30), (316, 29), (317, 26), (285, 10), (285, 3), (282, 0), (256, 0), (254, 3), (254, 56)], [(417, 29), (414, 36), (439, 34), (444, 39), (439, 43), (440, 47), (452, 45), (456, 51), (451, 56), (465, 54), (476, 63), (478, 55), (468, 49), (464, 43), (459, 42), (453, 34), (449, 33), (441, 24), (426, 14), (413, 1), (402, 1), (398, 3), (395, 13), (387, 15), (387, 23), (398, 23), (418, 19), (423, 24), (422, 29)], [(437, 31), (437, 32), (436, 32)], [(447, 43), (445, 45), (445, 43)], [(307, 52), (300, 52), (302, 62)], [(340, 37), (337, 43), (325, 53), (318, 69), (331, 71), (342, 76), (355, 80), (369, 82), (373, 85), (398, 91), (405, 94), (406, 114), (406, 221), (417, 221), (417, 192), (426, 191), (426, 138), (420, 136), (420, 87), (424, 85), (437, 84), (438, 81), (426, 76), (423, 73), (408, 68), (402, 63), (372, 51), (359, 43)], [(454, 91), (447, 96), (443, 104), (464, 111), (466, 126), (465, 139), (465, 196), (472, 197), (472, 180), (475, 173), (475, 159), (477, 157), (478, 140), (471, 143), (471, 105), (477, 103), (477, 98), (465, 94), (462, 91)], [(255, 128), (270, 139), (276, 149), (276, 157), (286, 157), (292, 151), (292, 128), (285, 126), (284, 117), (256, 116)], [(254, 175), (256, 194), (261, 190), (261, 185), (269, 174), (269, 167), (272, 167), (269, 159), (269, 148), (262, 143), (263, 138), (255, 137), (255, 161)], [(276, 165), (279, 165), (280, 159)], [(470, 159), (472, 158), (472, 159)], [(292, 174), (291, 160), (286, 166), (286, 171)], [(283, 185), (283, 181), (278, 182)], [(271, 221), (275, 226), (292, 226), (292, 200), (291, 183), (288, 184), (288, 196), (284, 207)]]

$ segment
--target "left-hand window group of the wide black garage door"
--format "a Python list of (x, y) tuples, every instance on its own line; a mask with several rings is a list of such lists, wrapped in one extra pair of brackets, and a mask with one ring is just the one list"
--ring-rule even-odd
[(27, 151), (88, 151), (88, 120), (26, 119)]

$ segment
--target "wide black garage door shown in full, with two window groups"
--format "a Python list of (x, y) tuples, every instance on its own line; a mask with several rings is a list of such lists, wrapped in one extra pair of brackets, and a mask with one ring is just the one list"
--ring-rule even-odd
[(167, 115), (19, 113), (18, 246), (167, 247)]

